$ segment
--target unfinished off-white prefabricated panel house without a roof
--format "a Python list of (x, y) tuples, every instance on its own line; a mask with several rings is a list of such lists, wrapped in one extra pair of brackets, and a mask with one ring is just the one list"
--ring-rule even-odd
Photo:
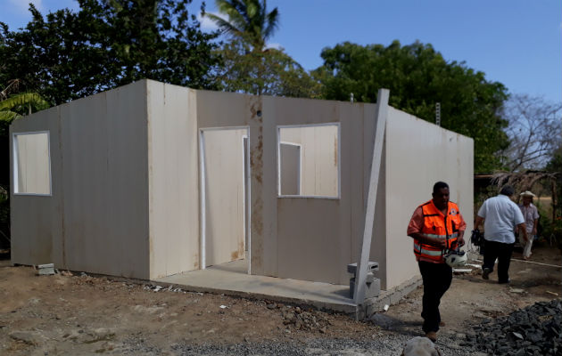
[(16, 120), (12, 263), (157, 279), (244, 259), (252, 275), (346, 285), (367, 246), (381, 287), (399, 286), (419, 274), (406, 228), (434, 182), (473, 221), (473, 141), (380, 96), (141, 80)]

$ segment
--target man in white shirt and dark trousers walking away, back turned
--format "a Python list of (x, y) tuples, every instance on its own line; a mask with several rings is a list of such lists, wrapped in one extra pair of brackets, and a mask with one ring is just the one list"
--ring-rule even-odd
[(525, 241), (529, 238), (525, 229), (525, 219), (516, 203), (509, 197), (515, 190), (506, 185), (497, 197), (486, 199), (478, 210), (475, 229), (483, 222), (484, 252), (482, 278), (489, 279), (493, 265), (498, 259), (498, 283), (509, 283), (509, 262), (515, 244), (514, 230), (519, 228)]

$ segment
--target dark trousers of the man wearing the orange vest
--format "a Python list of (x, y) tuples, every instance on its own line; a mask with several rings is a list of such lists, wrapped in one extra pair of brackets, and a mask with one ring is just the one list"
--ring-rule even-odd
[(424, 298), (422, 318), (424, 326), (422, 329), (428, 333), (437, 332), (441, 315), (439, 314), (439, 303), (441, 297), (450, 287), (452, 280), (452, 269), (446, 263), (430, 263), (419, 261), (417, 263), (422, 279), (424, 279)]

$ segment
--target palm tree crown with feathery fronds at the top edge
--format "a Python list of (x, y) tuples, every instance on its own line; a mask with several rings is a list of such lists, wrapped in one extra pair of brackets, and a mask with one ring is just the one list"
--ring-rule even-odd
[(252, 45), (253, 51), (262, 52), (266, 41), (273, 36), (279, 25), (277, 7), (267, 12), (266, 0), (215, 0), (222, 18), (206, 13), (227, 35)]

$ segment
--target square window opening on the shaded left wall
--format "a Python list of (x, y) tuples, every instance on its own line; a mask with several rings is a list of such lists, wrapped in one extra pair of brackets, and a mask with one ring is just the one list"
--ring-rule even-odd
[(51, 195), (49, 133), (13, 134), (14, 194)]

